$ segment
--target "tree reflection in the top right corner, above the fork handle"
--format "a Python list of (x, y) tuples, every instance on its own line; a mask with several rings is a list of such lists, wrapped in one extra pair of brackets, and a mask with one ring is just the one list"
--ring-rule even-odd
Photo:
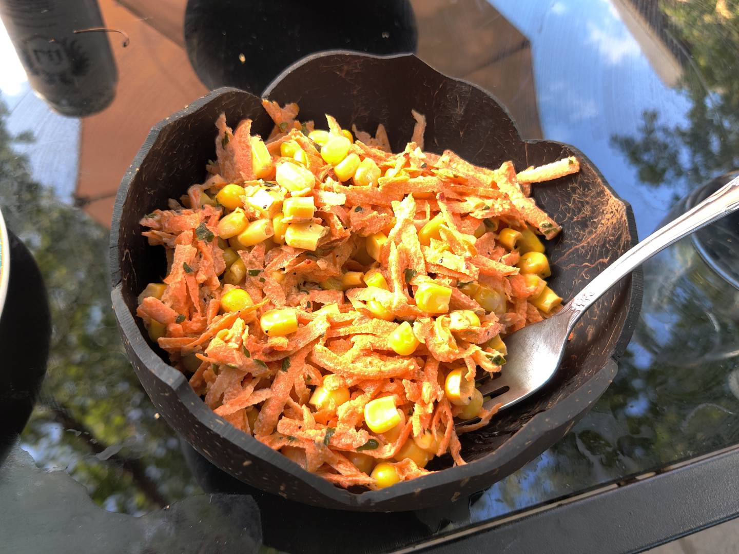
[(705, 182), (739, 160), (739, 4), (661, 0), (659, 7), (689, 51), (679, 84), (691, 103), (687, 123), (667, 126), (657, 112), (644, 112), (636, 137), (612, 143), (646, 184)]

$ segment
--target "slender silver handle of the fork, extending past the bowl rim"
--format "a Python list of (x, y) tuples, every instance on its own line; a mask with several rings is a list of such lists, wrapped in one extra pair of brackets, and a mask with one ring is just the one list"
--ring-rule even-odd
[(631, 273), (638, 265), (673, 242), (737, 209), (739, 209), (739, 177), (723, 185), (695, 208), (655, 230), (585, 285), (585, 288), (575, 295), (564, 308), (570, 312), (570, 326), (574, 326), (585, 310), (588, 310), (610, 287)]

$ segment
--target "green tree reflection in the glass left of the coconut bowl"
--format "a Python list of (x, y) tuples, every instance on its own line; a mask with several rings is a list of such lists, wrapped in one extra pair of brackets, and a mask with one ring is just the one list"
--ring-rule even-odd
[(107, 231), (31, 178), (13, 144), (33, 137), (13, 137), (6, 116), (0, 102), (0, 205), (44, 276), (53, 327), (49, 369), (21, 442), (38, 463), (66, 465), (109, 509), (160, 507), (194, 485), (123, 353), (110, 305)]

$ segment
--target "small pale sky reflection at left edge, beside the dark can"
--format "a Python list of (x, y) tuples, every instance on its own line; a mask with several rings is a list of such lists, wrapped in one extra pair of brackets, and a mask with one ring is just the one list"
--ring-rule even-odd
[(51, 186), (59, 199), (69, 202), (77, 184), (80, 120), (53, 112), (33, 93), (2, 24), (0, 60), (0, 98), (10, 110), (8, 129), (13, 134), (32, 131), (36, 139), (15, 149), (29, 157), (35, 180)]

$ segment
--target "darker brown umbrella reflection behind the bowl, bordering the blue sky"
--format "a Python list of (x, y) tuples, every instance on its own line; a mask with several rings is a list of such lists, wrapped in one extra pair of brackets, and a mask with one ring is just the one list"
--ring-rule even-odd
[(503, 102), (526, 138), (541, 138), (531, 44), (486, 1), (412, 0), (418, 57), (482, 86)]

